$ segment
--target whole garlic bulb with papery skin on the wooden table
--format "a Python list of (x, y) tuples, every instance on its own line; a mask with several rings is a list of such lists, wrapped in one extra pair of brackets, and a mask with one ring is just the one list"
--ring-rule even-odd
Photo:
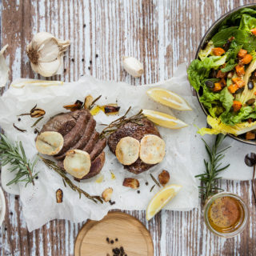
[(40, 32), (35, 34), (30, 44), (26, 46), (26, 54), (34, 72), (44, 77), (61, 74), (63, 54), (70, 46), (70, 41), (54, 38), (53, 34)]

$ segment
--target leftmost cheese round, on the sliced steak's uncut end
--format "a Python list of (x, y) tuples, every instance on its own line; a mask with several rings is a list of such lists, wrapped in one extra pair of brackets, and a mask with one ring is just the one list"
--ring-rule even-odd
[(45, 131), (38, 135), (35, 146), (39, 153), (54, 155), (62, 150), (64, 138), (56, 131)]

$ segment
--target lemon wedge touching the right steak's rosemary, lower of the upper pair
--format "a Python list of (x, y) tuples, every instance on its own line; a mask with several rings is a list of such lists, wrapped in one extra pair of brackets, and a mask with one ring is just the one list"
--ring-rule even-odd
[(150, 119), (150, 121), (154, 122), (158, 126), (170, 129), (181, 129), (187, 126), (187, 124), (182, 120), (162, 112), (154, 110), (143, 110), (142, 114), (144, 114), (148, 119)]

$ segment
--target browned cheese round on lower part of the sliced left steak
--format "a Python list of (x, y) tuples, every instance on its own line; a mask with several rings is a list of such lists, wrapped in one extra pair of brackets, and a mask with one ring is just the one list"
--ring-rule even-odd
[(63, 164), (69, 174), (82, 178), (90, 172), (90, 154), (83, 150), (69, 150)]

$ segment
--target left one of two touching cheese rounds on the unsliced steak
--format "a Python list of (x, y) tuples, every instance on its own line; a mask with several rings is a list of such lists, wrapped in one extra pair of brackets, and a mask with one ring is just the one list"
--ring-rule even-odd
[(139, 154), (139, 141), (132, 137), (121, 138), (115, 150), (118, 161), (125, 166), (136, 162)]

